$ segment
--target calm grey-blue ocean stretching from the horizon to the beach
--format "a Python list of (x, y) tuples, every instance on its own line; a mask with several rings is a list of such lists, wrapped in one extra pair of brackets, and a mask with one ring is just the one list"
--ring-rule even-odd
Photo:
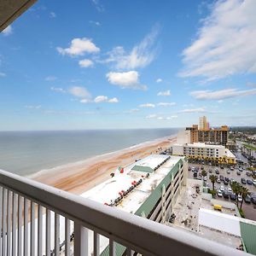
[(0, 169), (27, 176), (160, 137), (171, 137), (177, 131), (177, 128), (0, 131)]

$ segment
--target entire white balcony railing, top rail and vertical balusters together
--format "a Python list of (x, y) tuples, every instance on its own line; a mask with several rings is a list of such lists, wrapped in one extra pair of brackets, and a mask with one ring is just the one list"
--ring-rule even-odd
[(2, 256), (247, 254), (1, 170), (0, 209)]

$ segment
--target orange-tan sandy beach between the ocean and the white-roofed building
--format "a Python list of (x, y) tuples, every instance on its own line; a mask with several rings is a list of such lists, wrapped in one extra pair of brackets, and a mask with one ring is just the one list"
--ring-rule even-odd
[(128, 166), (138, 158), (159, 152), (176, 142), (176, 137), (164, 137), (148, 143), (138, 144), (117, 152), (102, 154), (88, 160), (58, 166), (34, 174), (38, 182), (80, 195), (110, 177), (119, 166)]

